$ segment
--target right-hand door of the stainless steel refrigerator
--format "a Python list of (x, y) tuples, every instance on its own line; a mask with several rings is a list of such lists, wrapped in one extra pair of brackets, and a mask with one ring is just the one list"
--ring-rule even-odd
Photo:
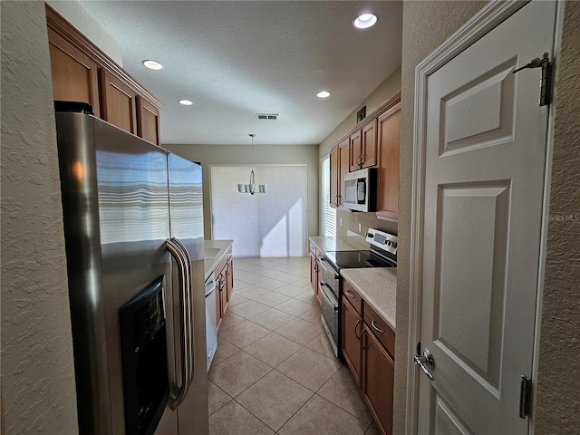
[[(175, 154), (168, 154), (169, 170), (169, 219), (171, 237), (177, 240), (189, 256), (189, 345), (193, 350), (189, 355), (192, 361), (192, 377), (183, 380), (184, 372), (181, 360), (175, 358), (170, 362), (178, 385), (189, 383), (189, 391), (177, 410), (166, 413), (177, 413), (179, 435), (208, 433), (208, 375), (206, 362), (206, 310), (204, 294), (204, 247), (203, 247), (203, 196), (201, 185), (201, 167)], [(178, 277), (173, 278), (177, 280)], [(176, 281), (174, 292), (179, 288)], [(178, 296), (174, 295), (174, 299)], [(175, 305), (174, 305), (175, 306)], [(187, 327), (187, 326), (186, 326)], [(174, 331), (179, 331), (174, 325)], [(179, 336), (173, 337), (172, 343), (180, 352)], [(175, 352), (175, 355), (179, 355)]]

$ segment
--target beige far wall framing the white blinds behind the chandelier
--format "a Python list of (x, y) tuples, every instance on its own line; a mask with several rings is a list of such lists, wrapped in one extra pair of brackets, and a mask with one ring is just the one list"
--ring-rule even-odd
[[(257, 138), (256, 138), (257, 139)], [(248, 138), (249, 141), (249, 138)], [(239, 145), (163, 145), (166, 150), (175, 152), (185, 159), (201, 162), (203, 168), (203, 212), (204, 231), (207, 239), (211, 238), (210, 194), (209, 194), (209, 165), (249, 165), (251, 150), (250, 146)], [(318, 173), (320, 161), (318, 160), (318, 147), (315, 145), (300, 146), (268, 146), (256, 145), (254, 141), (254, 164), (306, 164), (308, 165), (308, 203), (306, 205), (306, 222), (308, 236), (318, 235)], [(256, 180), (267, 183), (260, 179), (259, 169), (256, 169)], [(247, 174), (249, 178), (249, 173)], [(247, 182), (247, 180), (240, 180)], [(267, 195), (267, 193), (266, 193)], [(306, 253), (304, 253), (306, 255)]]

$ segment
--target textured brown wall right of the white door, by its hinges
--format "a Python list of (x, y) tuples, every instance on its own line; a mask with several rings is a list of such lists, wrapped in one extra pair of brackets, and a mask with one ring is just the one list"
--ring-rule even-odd
[(580, 2), (566, 2), (556, 96), (536, 433), (580, 428)]

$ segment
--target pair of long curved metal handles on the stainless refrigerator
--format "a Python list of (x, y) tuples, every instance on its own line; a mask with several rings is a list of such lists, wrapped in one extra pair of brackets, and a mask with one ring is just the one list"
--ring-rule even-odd
[(175, 380), (175, 385), (177, 387), (177, 394), (175, 399), (171, 402), (171, 408), (177, 409), (179, 404), (185, 399), (187, 395), (187, 390), (189, 389), (189, 334), (186, 331), (185, 325), (189, 323), (189, 310), (186, 301), (186, 295), (189, 294), (187, 289), (189, 288), (189, 266), (187, 265), (187, 260), (181, 251), (178, 244), (175, 243), (173, 239), (167, 240), (165, 246), (171, 253), (171, 256), (175, 258), (178, 265), (179, 273), (179, 325), (180, 325), (180, 341), (181, 341), (181, 386), (178, 386), (177, 380)]

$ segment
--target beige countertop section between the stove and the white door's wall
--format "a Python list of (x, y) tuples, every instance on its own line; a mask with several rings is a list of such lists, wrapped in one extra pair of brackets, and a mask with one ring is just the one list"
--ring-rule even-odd
[(341, 269), (341, 275), (396, 333), (397, 268)]

